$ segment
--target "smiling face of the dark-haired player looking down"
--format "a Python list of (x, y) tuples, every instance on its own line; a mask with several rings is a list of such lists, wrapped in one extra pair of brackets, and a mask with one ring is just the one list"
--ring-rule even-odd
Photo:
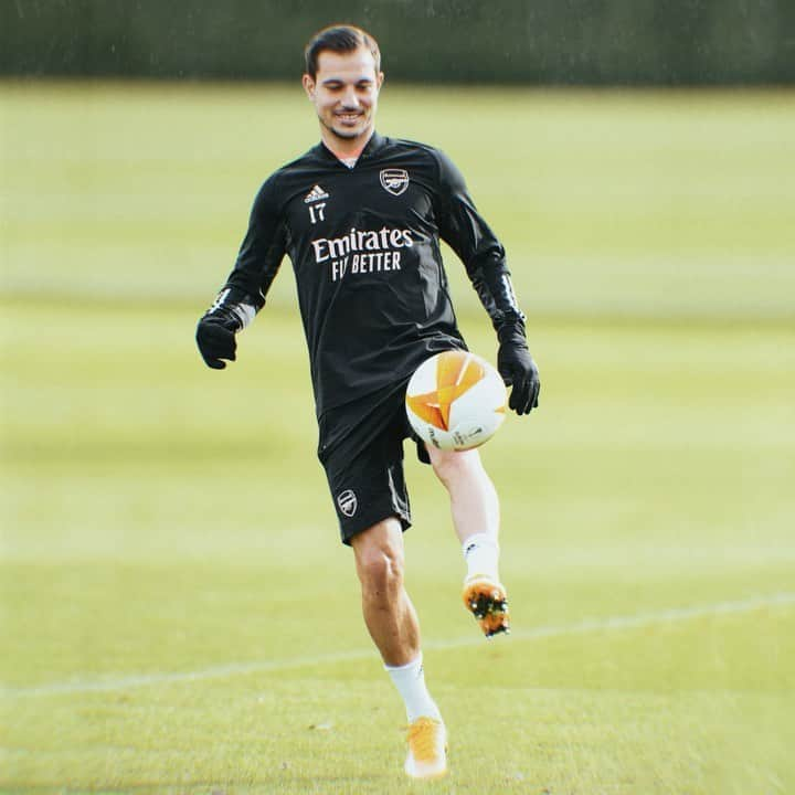
[(364, 47), (348, 53), (324, 50), (315, 80), (304, 75), (304, 88), (320, 124), (347, 144), (370, 137), (382, 82), (383, 73), (375, 72), (372, 53)]

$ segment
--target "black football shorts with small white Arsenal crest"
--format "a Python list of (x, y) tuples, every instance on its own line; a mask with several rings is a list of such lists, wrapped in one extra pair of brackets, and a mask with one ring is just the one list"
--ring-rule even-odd
[(430, 463), (405, 413), (405, 383), (330, 409), (319, 420), (318, 458), (326, 469), (342, 542), (389, 517), (411, 527), (403, 474), (403, 439), (417, 445)]

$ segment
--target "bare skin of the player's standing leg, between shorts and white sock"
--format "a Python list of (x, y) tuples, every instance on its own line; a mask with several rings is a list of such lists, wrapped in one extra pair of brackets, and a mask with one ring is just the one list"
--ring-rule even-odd
[(420, 624), (403, 586), (401, 524), (384, 519), (354, 536), (351, 545), (370, 636), (385, 665), (406, 665), (420, 655)]

